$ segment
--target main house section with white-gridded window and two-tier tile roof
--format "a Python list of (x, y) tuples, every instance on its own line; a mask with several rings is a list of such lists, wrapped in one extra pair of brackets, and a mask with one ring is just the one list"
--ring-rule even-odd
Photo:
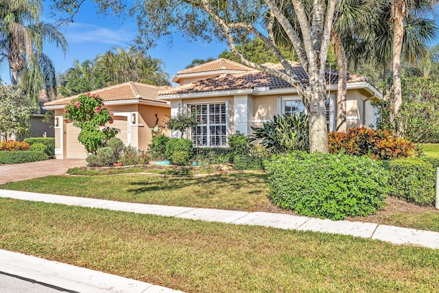
[[(265, 64), (282, 70), (281, 65)], [(292, 67), (303, 83), (308, 77), (299, 63)], [(337, 117), (337, 71), (326, 72), (327, 124), (335, 130)], [(173, 82), (180, 86), (160, 91), (157, 99), (169, 101), (171, 115), (179, 108), (196, 115), (200, 124), (185, 135), (197, 147), (222, 147), (226, 137), (237, 131), (252, 134), (252, 126), (261, 127), (276, 114), (292, 115), (305, 110), (296, 89), (280, 78), (251, 69), (237, 62), (217, 59), (178, 71)], [(382, 93), (361, 75), (348, 75), (346, 121), (341, 129), (375, 124), (371, 101), (382, 99)], [(340, 130), (340, 128), (338, 128)], [(177, 132), (172, 137), (179, 137)]]

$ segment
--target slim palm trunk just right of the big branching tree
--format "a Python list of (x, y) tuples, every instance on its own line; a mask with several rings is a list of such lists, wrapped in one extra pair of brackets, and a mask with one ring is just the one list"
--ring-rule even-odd
[(340, 36), (333, 33), (333, 46), (338, 67), (337, 84), (337, 119), (335, 121), (335, 131), (346, 132), (346, 74), (347, 58)]

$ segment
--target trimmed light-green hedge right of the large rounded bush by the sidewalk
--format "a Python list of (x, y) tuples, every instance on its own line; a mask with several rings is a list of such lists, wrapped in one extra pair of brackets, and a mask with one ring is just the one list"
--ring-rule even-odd
[(425, 158), (385, 161), (384, 165), (390, 171), (390, 196), (420, 205), (434, 203), (436, 168)]

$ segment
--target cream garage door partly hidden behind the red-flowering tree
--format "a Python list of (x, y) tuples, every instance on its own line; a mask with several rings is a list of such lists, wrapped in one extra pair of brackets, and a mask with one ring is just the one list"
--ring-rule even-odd
[[(123, 143), (128, 145), (128, 121), (127, 117), (116, 116), (113, 124), (107, 124), (106, 126), (112, 128), (118, 128), (121, 130), (116, 137), (121, 139)], [(73, 122), (66, 124), (66, 152), (67, 159), (86, 159), (87, 151), (84, 145), (78, 141), (78, 134), (80, 134), (80, 128), (73, 126)]]

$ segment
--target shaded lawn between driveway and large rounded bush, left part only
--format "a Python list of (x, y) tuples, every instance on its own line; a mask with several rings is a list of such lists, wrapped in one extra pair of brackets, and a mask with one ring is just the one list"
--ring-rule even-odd
[(271, 205), (266, 174), (198, 178), (160, 176), (48, 176), (0, 185), (2, 189), (180, 207), (259, 211)]

